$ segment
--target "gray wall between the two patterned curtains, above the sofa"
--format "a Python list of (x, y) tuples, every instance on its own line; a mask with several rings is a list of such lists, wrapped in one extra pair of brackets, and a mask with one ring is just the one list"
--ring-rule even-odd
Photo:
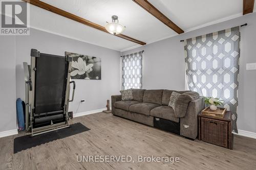
[[(178, 42), (178, 43), (177, 43)], [(184, 47), (180, 37), (145, 45), (122, 55), (144, 50), (142, 86), (145, 89), (183, 90), (185, 84)], [(182, 57), (180, 57), (182, 56)], [(183, 77), (181, 77), (183, 75)]]

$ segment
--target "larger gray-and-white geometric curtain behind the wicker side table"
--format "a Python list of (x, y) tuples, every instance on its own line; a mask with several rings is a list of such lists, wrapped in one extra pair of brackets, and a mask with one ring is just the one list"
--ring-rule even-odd
[(240, 27), (184, 40), (188, 87), (224, 101), (237, 130)]

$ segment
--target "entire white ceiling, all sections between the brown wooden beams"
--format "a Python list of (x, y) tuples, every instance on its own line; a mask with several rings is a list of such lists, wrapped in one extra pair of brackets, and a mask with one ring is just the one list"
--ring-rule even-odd
[[(124, 35), (152, 43), (177, 35), (161, 21), (146, 12), (132, 0), (42, 0), (62, 10), (88, 19), (101, 26), (118, 15), (126, 26)], [(242, 0), (148, 0), (185, 32), (242, 15)], [(255, 1), (256, 3), (256, 1)], [(256, 6), (256, 5), (255, 5)], [(255, 10), (254, 10), (255, 11)], [(89, 42), (114, 50), (140, 46), (137, 43), (107, 34), (52, 12), (30, 7), (32, 28)]]

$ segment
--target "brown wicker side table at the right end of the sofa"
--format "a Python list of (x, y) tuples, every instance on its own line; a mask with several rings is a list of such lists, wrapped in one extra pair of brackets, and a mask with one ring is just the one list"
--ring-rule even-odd
[(198, 114), (198, 139), (221, 147), (233, 149), (231, 113), (227, 111), (223, 118)]

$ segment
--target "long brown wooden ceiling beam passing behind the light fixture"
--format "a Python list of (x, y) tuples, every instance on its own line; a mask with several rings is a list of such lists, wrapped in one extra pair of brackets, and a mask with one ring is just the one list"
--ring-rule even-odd
[[(29, 4), (32, 4), (34, 6), (37, 6), (39, 8), (42, 8), (42, 9), (45, 9), (47, 11), (51, 11), (55, 14), (58, 14), (58, 15), (61, 15), (63, 17), (66, 17), (66, 18), (69, 18), (69, 19), (72, 19), (74, 21), (77, 21), (77, 22), (80, 22), (82, 23), (83, 25), (86, 25), (86, 26), (89, 26), (89, 27), (92, 27), (94, 29), (97, 29), (97, 30), (100, 30), (100, 31), (103, 31), (105, 33), (109, 33), (103, 26), (100, 26), (98, 25), (97, 23), (94, 23), (94, 22), (91, 22), (87, 19), (84, 19), (84, 18), (81, 18), (79, 16), (76, 16), (72, 13), (69, 13), (67, 11), (64, 11), (64, 10), (61, 10), (59, 8), (56, 8), (52, 5), (49, 5), (47, 3), (44, 3), (44, 2), (41, 2), (39, 0), (22, 0), (24, 2), (27, 2)], [(110, 34), (110, 33), (109, 33)], [(113, 35), (113, 34), (111, 34)], [(134, 38), (131, 38), (131, 37), (128, 37), (126, 35), (123, 35), (123, 34), (117, 34), (115, 35), (117, 37), (120, 37), (120, 38), (123, 38), (123, 39), (126, 39), (126, 40), (129, 40), (129, 41), (132, 41), (132, 42), (135, 42), (135, 43), (138, 43), (138, 44), (141, 44), (141, 45), (145, 45), (146, 43), (145, 42), (142, 42), (142, 41), (139, 41), (137, 39), (134, 39)]]

